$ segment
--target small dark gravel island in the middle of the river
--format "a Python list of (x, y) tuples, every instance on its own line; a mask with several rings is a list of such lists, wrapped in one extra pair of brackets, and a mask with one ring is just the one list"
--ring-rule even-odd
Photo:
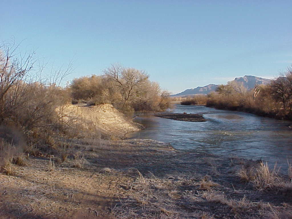
[(188, 122), (205, 122), (206, 119), (201, 114), (187, 114), (187, 113), (156, 113), (156, 117), (161, 117), (165, 119), (173, 119), (178, 121), (188, 121)]

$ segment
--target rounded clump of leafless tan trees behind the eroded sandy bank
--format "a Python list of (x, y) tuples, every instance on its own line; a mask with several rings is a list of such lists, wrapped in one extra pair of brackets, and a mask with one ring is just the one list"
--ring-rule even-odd
[(170, 107), (169, 92), (150, 81), (145, 71), (115, 64), (102, 72), (73, 79), (69, 88), (75, 102), (109, 103), (123, 112), (164, 111)]

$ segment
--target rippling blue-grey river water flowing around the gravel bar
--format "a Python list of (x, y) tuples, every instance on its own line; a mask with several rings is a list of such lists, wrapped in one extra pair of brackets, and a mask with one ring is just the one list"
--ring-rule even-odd
[(207, 121), (175, 121), (140, 114), (134, 121), (147, 128), (128, 138), (168, 142), (183, 151), (263, 159), (272, 165), (277, 162), (286, 170), (287, 161), (292, 161), (292, 130), (287, 127), (291, 121), (193, 105), (175, 105), (171, 112), (203, 114)]

